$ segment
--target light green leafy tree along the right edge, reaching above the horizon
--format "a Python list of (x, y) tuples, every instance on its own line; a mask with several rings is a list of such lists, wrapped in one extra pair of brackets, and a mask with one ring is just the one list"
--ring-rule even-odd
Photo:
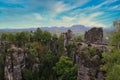
[(109, 54), (103, 54), (106, 64), (102, 67), (106, 73), (106, 80), (120, 80), (120, 20), (114, 22), (117, 30), (111, 34), (112, 50)]

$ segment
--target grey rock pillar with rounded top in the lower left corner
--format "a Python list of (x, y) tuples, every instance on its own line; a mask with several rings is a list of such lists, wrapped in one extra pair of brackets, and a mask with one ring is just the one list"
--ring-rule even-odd
[(8, 50), (5, 58), (5, 80), (22, 80), (22, 67), (21, 62), (24, 61), (24, 54), (20, 48), (14, 45)]

